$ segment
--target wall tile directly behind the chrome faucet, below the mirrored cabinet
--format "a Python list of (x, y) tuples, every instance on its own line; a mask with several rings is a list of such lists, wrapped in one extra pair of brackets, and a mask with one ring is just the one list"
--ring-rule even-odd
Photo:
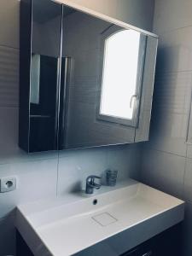
[(139, 148), (135, 145), (121, 145), (108, 148), (90, 148), (61, 151), (58, 172), (58, 195), (76, 192), (85, 188), (89, 175), (102, 177), (106, 183), (106, 170), (118, 170), (118, 180), (139, 178)]

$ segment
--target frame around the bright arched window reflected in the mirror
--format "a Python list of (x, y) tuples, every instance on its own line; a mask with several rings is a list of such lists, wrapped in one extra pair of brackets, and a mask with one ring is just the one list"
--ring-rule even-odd
[[(108, 27), (101, 36), (101, 45), (100, 45), (100, 78), (99, 78), (99, 90), (96, 101), (96, 119), (101, 121), (110, 122), (113, 124), (126, 125), (131, 127), (138, 126), (139, 112), (140, 112), (140, 103), (142, 97), (142, 87), (143, 87), (143, 73), (144, 73), (144, 64), (145, 64), (145, 55), (146, 55), (146, 46), (147, 46), (147, 36), (141, 33), (140, 36), (140, 46), (139, 46), (139, 60), (137, 67), (137, 84), (136, 84), (136, 94), (134, 96), (134, 108), (132, 119), (124, 119), (115, 117), (112, 115), (100, 113), (101, 102), (102, 102), (102, 86), (103, 86), (103, 71), (105, 63), (105, 51), (106, 51), (106, 41), (108, 38), (112, 37), (116, 32), (124, 31), (125, 29), (119, 26), (112, 25)], [(139, 75), (138, 75), (139, 74)], [(131, 104), (128, 103), (128, 104)]]

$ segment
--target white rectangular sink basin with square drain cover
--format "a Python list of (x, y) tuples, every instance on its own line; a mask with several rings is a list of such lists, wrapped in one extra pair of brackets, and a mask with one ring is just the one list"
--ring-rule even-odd
[(88, 198), (76, 194), (21, 205), (16, 227), (35, 256), (81, 255), (106, 239), (119, 255), (181, 222), (183, 215), (183, 201), (129, 180)]

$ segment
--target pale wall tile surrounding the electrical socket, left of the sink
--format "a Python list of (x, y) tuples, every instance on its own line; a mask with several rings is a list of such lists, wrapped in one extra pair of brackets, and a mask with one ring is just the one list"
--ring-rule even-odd
[(17, 177), (17, 189), (0, 194), (0, 218), (5, 218), (18, 204), (56, 195), (58, 160), (39, 160), (0, 165), (1, 177)]

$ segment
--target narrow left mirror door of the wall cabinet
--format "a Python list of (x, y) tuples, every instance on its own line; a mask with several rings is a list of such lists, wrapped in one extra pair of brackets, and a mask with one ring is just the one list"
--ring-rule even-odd
[[(30, 62), (28, 84), (25, 81), (20, 83), (21, 97), (24, 97), (22, 95), (26, 90), (24, 87), (29, 86), (28, 106), (25, 106), (28, 112), (26, 151), (48, 151), (57, 149), (62, 6), (53, 1), (22, 0), (21, 18), (25, 15), (27, 6), (31, 15), (23, 20), (22, 26), (28, 23), (28, 27), (31, 26), (31, 28), (27, 31), (28, 35), (20, 34), (23, 42), (27, 42), (26, 37), (31, 36), (30, 54), (22, 48), (20, 54), (21, 65), (24, 55), (27, 55)], [(22, 47), (25, 48), (23, 45)], [(21, 68), (20, 77), (22, 78), (25, 73), (28, 73), (26, 69), (29, 67), (23, 64)]]

